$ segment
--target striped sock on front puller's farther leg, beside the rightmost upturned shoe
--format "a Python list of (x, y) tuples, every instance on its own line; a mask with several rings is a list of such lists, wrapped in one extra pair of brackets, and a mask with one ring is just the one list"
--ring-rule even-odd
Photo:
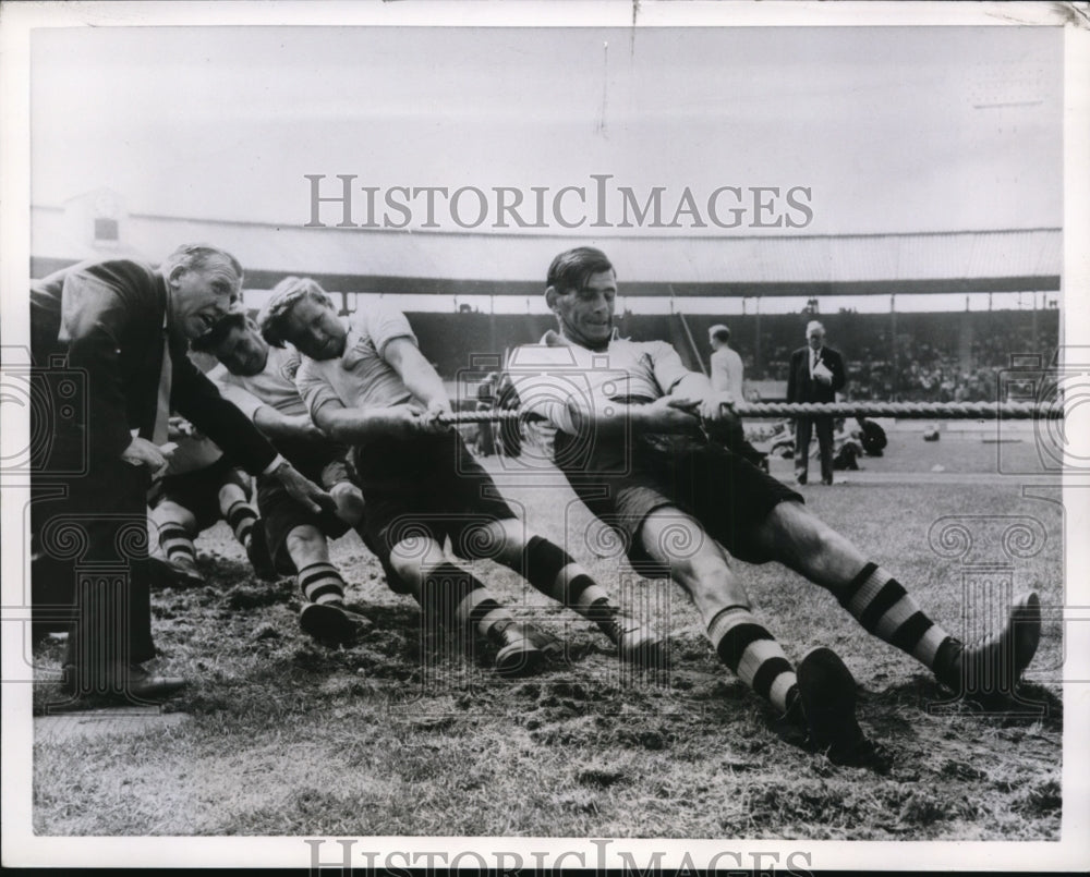
[(940, 648), (950, 638), (920, 611), (900, 582), (876, 563), (863, 567), (837, 599), (868, 633), (907, 651), (929, 669), (934, 669)]

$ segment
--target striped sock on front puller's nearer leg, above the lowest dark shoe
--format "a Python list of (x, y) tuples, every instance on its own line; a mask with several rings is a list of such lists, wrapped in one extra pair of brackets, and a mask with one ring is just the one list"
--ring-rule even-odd
[(719, 660), (754, 693), (787, 712), (798, 696), (795, 668), (784, 649), (744, 606), (720, 609), (708, 622), (707, 638)]

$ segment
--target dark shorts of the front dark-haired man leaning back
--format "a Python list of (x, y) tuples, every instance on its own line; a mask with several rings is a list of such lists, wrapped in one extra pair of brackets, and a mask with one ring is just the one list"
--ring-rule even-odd
[(626, 474), (594, 477), (583, 471), (572, 473), (571, 483), (586, 507), (620, 533), (640, 567), (650, 561), (640, 529), (656, 509), (680, 509), (734, 557), (764, 563), (772, 558), (756, 548), (754, 531), (778, 503), (802, 502), (738, 454), (686, 436), (639, 438)]

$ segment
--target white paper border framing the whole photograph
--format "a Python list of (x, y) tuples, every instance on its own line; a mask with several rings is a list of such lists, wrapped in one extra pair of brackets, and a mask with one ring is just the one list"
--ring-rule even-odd
[[(87, 2), (5, 3), (0, 10), (3, 87), (2, 173), (0, 173), (0, 289), (3, 291), (2, 343), (25, 344), (25, 290), (29, 283), (29, 35), (36, 27), (169, 27), (178, 25), (223, 26), (259, 24), (307, 26), (1064, 26), (1065, 27), (1065, 206), (1064, 206), (1064, 338), (1068, 345), (1090, 348), (1090, 17), (1086, 3), (816, 3), (816, 2), (571, 2), (562, 4), (520, 2), (509, 4), (469, 2)], [(7, 412), (5, 412), (7, 413)], [(4, 417), (4, 449), (25, 447), (26, 423)], [(1090, 606), (1085, 571), (1090, 569), (1090, 485), (1065, 487), (1066, 581), (1073, 596), (1078, 588), (1081, 611)], [(24, 488), (25, 489), (25, 488)], [(17, 533), (23, 508), (20, 488), (4, 486), (2, 507), (5, 533)], [(1082, 538), (1079, 538), (1079, 535)], [(3, 606), (17, 606), (25, 570), (19, 569), (21, 552), (3, 552)], [(14, 567), (14, 568), (13, 568)], [(14, 588), (14, 590), (12, 589)], [(14, 594), (14, 596), (12, 596)], [(1090, 637), (1073, 635), (1068, 643), (1068, 679), (1088, 679)], [(1079, 626), (1068, 628), (1078, 634)], [(3, 643), (4, 668), (22, 660), (11, 654), (17, 646)], [(1079, 671), (1076, 672), (1076, 668)], [(4, 678), (9, 678), (4, 673)], [(681, 864), (688, 852), (692, 861), (707, 863), (725, 851), (739, 853), (747, 864), (752, 853), (782, 851), (806, 854), (795, 861), (796, 870), (850, 868), (865, 870), (917, 870), (1004, 868), (1013, 870), (1082, 869), (1090, 862), (1090, 764), (1086, 740), (1090, 732), (1090, 691), (1086, 683), (1065, 689), (1063, 838), (1057, 842), (761, 842), (734, 840), (615, 840), (588, 838), (365, 838), (356, 851), (404, 851), (426, 853), (479, 851), (489, 864), (495, 851), (531, 853), (549, 851), (546, 866), (568, 853), (561, 865), (618, 867), (617, 852), (630, 852), (645, 862), (665, 850), (664, 873)], [(197, 866), (256, 867), (311, 865), (312, 846), (303, 838), (52, 838), (36, 837), (32, 829), (31, 691), (27, 685), (3, 686), (3, 864), (5, 866)], [(325, 840), (320, 858), (336, 862), (336, 839)], [(603, 857), (604, 856), (604, 857)], [(383, 862), (382, 855), (378, 863)], [(449, 860), (448, 860), (449, 861)], [(720, 867), (738, 867), (735, 858), (720, 858)], [(760, 861), (760, 860), (758, 860)], [(787, 860), (780, 857), (782, 864)], [(355, 860), (359, 866), (364, 858)], [(767, 863), (768, 860), (765, 860)], [(410, 862), (396, 858), (393, 865)], [(473, 865), (474, 860), (467, 860)], [(746, 867), (744, 865), (742, 866)]]

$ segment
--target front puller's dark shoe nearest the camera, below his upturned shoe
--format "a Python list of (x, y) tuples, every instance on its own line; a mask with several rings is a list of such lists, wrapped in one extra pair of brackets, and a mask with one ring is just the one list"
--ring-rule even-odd
[(856, 721), (856, 680), (839, 656), (829, 648), (813, 649), (799, 663), (798, 679), (811, 748), (834, 765), (886, 772), (888, 754)]

